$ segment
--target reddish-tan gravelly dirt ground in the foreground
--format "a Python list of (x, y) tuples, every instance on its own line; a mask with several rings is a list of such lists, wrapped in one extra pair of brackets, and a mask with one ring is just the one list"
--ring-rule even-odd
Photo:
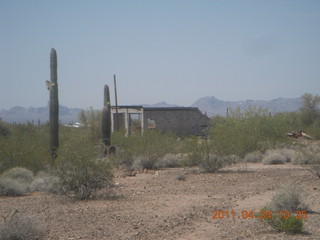
[[(185, 180), (177, 179), (181, 174)], [(288, 183), (303, 187), (312, 211), (303, 220), (303, 234), (277, 232), (264, 221), (242, 218), (244, 211), (259, 212), (274, 192)], [(135, 176), (117, 170), (108, 197), (72, 201), (65, 196), (34, 193), (0, 198), (2, 215), (12, 209), (32, 219), (45, 239), (52, 240), (320, 239), (320, 180), (303, 167), (290, 164), (252, 163), (216, 173), (201, 173), (196, 168), (162, 169)], [(230, 215), (212, 219), (213, 211)]]

